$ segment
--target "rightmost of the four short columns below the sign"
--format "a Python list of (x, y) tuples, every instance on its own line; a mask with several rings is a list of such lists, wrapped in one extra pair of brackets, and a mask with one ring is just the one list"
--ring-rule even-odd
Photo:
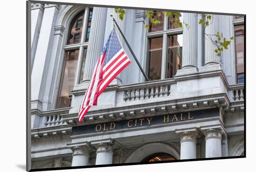
[(208, 129), (205, 135), (205, 158), (222, 157), (222, 133), (220, 129)]

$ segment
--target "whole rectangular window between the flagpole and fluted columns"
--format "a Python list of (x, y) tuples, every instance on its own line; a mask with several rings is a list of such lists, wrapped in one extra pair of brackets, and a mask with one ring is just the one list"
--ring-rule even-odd
[[(157, 13), (161, 13), (161, 16)], [(156, 11), (155, 15), (160, 24), (154, 25), (149, 22), (147, 33), (149, 80), (172, 78), (182, 66), (182, 28), (174, 24), (175, 16), (168, 18), (159, 11)], [(182, 13), (179, 17), (182, 21)]]

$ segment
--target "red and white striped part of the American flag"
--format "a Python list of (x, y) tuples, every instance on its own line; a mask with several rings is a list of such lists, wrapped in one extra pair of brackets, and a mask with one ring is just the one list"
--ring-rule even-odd
[(131, 61), (127, 57), (124, 50), (115, 54), (115, 56), (104, 65), (105, 53), (101, 55), (94, 67), (93, 78), (91, 79), (88, 89), (85, 93), (83, 102), (79, 109), (79, 121), (81, 122), (89, 108), (97, 105), (97, 100), (100, 94), (111, 83), (121, 71), (128, 66)]

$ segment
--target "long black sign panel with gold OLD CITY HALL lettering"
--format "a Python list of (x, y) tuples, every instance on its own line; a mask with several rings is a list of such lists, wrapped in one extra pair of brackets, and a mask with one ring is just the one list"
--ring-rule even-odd
[(93, 124), (87, 126), (76, 126), (72, 129), (72, 135), (89, 134), (97, 132), (108, 132), (114, 130), (137, 128), (143, 126), (154, 126), (159, 124), (169, 124), (195, 119), (206, 119), (219, 116), (219, 108), (206, 109), (191, 112), (180, 112), (166, 115), (159, 115), (138, 119), (126, 119), (115, 122)]

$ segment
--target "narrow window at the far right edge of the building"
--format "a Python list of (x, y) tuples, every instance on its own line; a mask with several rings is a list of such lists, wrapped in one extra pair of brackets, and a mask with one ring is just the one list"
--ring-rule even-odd
[(244, 26), (235, 26), (236, 78), (237, 83), (244, 82)]

